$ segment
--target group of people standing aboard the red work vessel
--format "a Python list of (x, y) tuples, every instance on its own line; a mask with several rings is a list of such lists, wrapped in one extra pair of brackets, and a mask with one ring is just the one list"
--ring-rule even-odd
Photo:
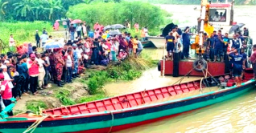
[[(191, 45), (190, 35), (192, 34), (189, 33), (189, 27), (186, 27), (184, 33), (180, 34), (178, 27), (175, 26), (166, 37), (167, 58), (172, 59), (171, 54), (175, 50), (180, 52), (182, 59), (191, 58), (189, 56), (189, 46)], [(248, 68), (248, 55), (246, 54), (246, 38), (248, 37), (249, 31), (246, 27), (243, 29), (243, 34), (241, 31), (238, 31), (236, 34), (233, 34), (232, 39), (229, 38), (228, 33), (222, 34), (221, 30), (213, 31), (213, 34), (204, 33), (202, 46), (204, 49), (203, 57), (208, 62), (224, 62), (225, 60), (229, 60), (230, 73), (235, 77), (237, 85), (241, 85), (242, 71)]]

